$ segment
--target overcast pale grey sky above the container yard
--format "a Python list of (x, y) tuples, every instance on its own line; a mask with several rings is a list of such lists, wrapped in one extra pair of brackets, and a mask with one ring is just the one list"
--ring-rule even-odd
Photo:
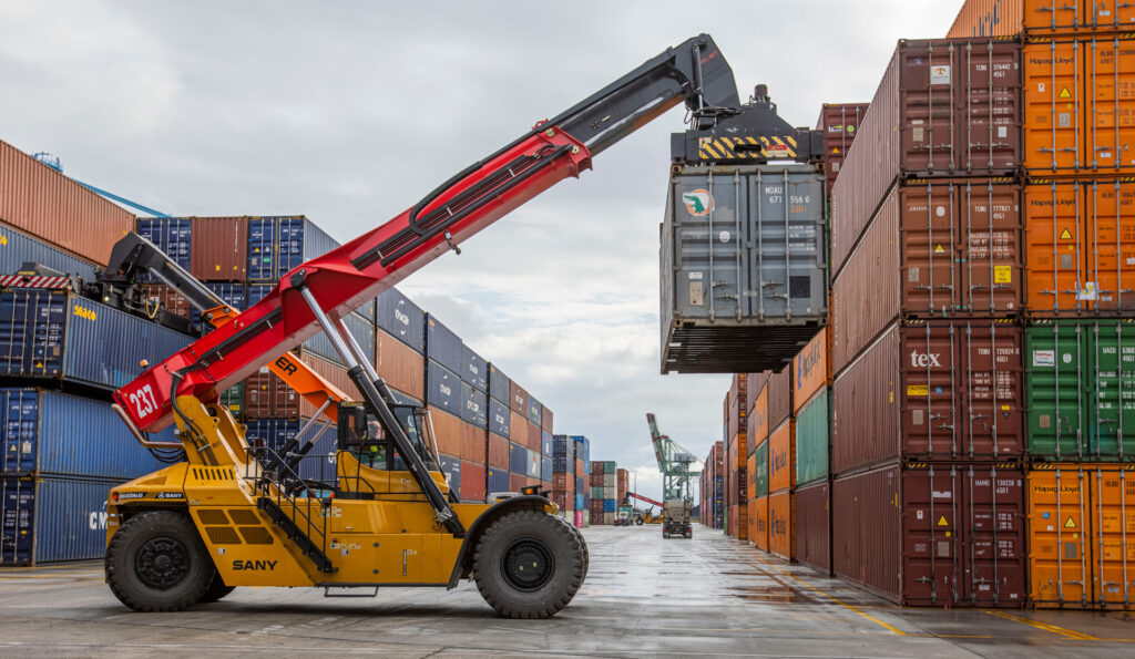
[[(178, 216), (306, 214), (339, 240), (670, 45), (814, 126), (961, 0), (0, 0), (0, 140)], [(704, 457), (726, 375), (659, 375), (658, 223), (682, 110), (400, 286), (661, 496), (646, 413)]]

